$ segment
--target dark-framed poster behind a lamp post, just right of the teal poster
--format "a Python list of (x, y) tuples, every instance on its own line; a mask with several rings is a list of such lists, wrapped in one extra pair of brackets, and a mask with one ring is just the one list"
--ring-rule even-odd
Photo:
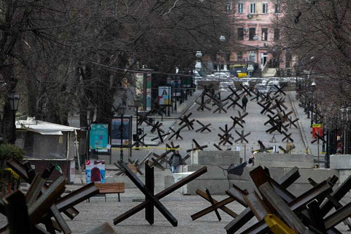
[(123, 117), (123, 125), (121, 124), (121, 118), (113, 118), (111, 122), (111, 145), (120, 146), (121, 144), (121, 128), (123, 126), (123, 145), (129, 146), (130, 144), (130, 118)]

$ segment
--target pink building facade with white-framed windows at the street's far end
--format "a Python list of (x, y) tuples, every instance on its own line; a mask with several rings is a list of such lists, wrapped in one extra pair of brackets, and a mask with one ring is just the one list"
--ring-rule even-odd
[(266, 63), (280, 67), (279, 56), (273, 45), (279, 42), (280, 29), (277, 20), (281, 15), (280, 0), (233, 0), (225, 10), (233, 18), (230, 34), (234, 47), (230, 53), (230, 65), (255, 63), (262, 70)]

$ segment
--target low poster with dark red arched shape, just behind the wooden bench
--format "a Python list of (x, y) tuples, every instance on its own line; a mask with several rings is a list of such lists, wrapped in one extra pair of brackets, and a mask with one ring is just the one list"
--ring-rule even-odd
[(104, 160), (86, 160), (85, 161), (86, 183), (100, 182), (105, 183), (105, 161)]

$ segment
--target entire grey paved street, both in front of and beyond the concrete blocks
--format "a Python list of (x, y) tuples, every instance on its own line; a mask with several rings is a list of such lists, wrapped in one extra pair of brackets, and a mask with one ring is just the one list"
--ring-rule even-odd
[[(195, 97), (198, 97), (199, 92), (197, 91), (197, 95), (194, 96), (192, 100), (194, 101)], [(222, 97), (226, 97), (230, 94), (230, 92), (222, 92)], [(307, 141), (311, 141), (311, 134), (309, 132), (311, 129), (309, 128), (309, 119), (303, 113), (303, 110), (298, 107), (298, 103), (295, 101), (295, 96), (292, 93), (285, 98), (285, 105), (288, 107), (288, 111), (293, 110), (292, 105), (296, 110), (296, 116), (299, 117), (299, 126), (300, 129), (291, 128), (289, 129), (289, 133), (292, 133), (292, 138), (294, 139), (294, 145), (296, 146), (294, 152), (295, 153), (304, 153), (305, 152), (305, 143)], [(213, 143), (218, 143), (219, 137), (217, 136), (220, 133), (219, 127), (224, 128), (225, 124), (231, 125), (232, 119), (231, 116), (237, 115), (238, 107), (235, 109), (230, 108), (228, 113), (221, 114), (213, 114), (212, 111), (204, 111), (198, 112), (196, 108), (197, 104), (191, 105), (190, 109), (187, 113), (193, 113), (190, 119), (195, 118), (201, 121), (203, 124), (211, 123), (210, 129), (211, 133), (195, 133), (195, 130), (200, 126), (195, 123), (195, 130), (189, 131), (187, 128), (184, 128), (181, 131), (181, 136), (183, 140), (172, 139), (174, 143), (179, 144), (181, 147), (182, 156), (186, 155), (186, 150), (192, 147), (191, 140), (194, 138), (200, 145), (208, 145), (208, 148), (205, 150), (215, 150)], [(242, 157), (246, 159), (248, 156), (251, 156), (251, 151), (253, 149), (258, 149), (259, 146), (257, 144), (257, 140), (261, 140), (265, 146), (278, 146), (281, 145), (285, 147), (285, 143), (281, 142), (282, 135), (275, 133), (275, 139), (277, 142), (273, 143), (270, 140), (273, 137), (273, 134), (266, 134), (266, 130), (269, 128), (269, 125), (264, 126), (264, 122), (268, 120), (268, 117), (261, 115), (259, 112), (261, 111), (261, 107), (256, 104), (255, 101), (249, 101), (247, 106), (247, 112), (249, 115), (244, 118), (246, 123), (244, 124), (245, 133), (251, 132), (251, 135), (247, 137), (249, 143), (246, 144), (246, 151), (244, 151), (244, 144), (234, 143), (232, 149), (235, 149), (237, 146), (240, 147), (240, 154)], [(294, 114), (295, 115), (295, 112)], [(180, 114), (174, 114), (173, 116), (180, 116)], [(169, 126), (173, 126), (176, 130), (178, 129), (178, 121), (175, 119), (164, 119), (164, 128), (166, 129)], [(146, 125), (142, 125), (145, 129)], [(301, 127), (302, 126), (302, 127)], [(241, 131), (242, 128), (236, 127), (237, 131)], [(301, 131), (300, 131), (301, 130)], [(238, 138), (238, 136), (234, 133), (234, 130), (231, 131), (234, 138)], [(304, 136), (305, 135), (305, 136)], [(169, 137), (169, 136), (168, 136)], [(165, 138), (165, 143), (170, 142), (168, 137)], [(309, 144), (309, 143), (308, 143)], [(311, 148), (311, 144), (308, 145)], [(159, 144), (156, 148), (164, 148), (165, 144)], [(227, 146), (223, 146), (226, 148)], [(229, 146), (228, 146), (229, 147)], [(142, 158), (150, 151), (140, 150), (133, 151), (133, 159)], [(164, 150), (154, 150), (154, 152), (161, 154)], [(314, 148), (312, 146), (312, 153), (315, 153)], [(116, 155), (116, 157), (118, 154)], [(107, 165), (108, 169), (114, 169), (114, 166)], [(113, 171), (108, 172), (110, 175), (114, 174)], [(155, 181), (155, 193), (160, 192), (164, 189), (164, 176), (171, 175), (171, 172), (167, 169), (165, 171), (160, 171), (155, 169), (156, 181)], [(76, 180), (77, 181), (77, 180)], [(78, 182), (78, 181), (77, 181)], [(67, 185), (67, 189), (73, 190), (80, 187), (79, 184)], [(214, 198), (217, 200), (222, 200), (226, 198), (226, 195), (214, 195)], [(94, 197), (91, 198), (90, 203), (82, 202), (76, 206), (79, 210), (79, 215), (74, 219), (70, 220), (65, 217), (68, 225), (72, 229), (73, 233), (86, 233), (91, 230), (93, 227), (102, 224), (103, 222), (108, 222), (118, 234), (202, 234), (202, 233), (211, 233), (211, 234), (220, 234), (225, 233), (224, 226), (227, 225), (232, 218), (219, 211), (222, 216), (222, 221), (217, 221), (215, 214), (206, 215), (198, 220), (192, 221), (190, 215), (206, 208), (209, 206), (209, 202), (205, 201), (201, 197), (197, 195), (180, 195), (178, 191), (172, 193), (171, 195), (166, 196), (161, 199), (161, 202), (165, 205), (167, 209), (177, 218), (178, 227), (174, 228), (158, 211), (155, 212), (155, 224), (149, 225), (147, 221), (144, 219), (144, 212), (140, 212), (137, 215), (133, 215), (125, 221), (122, 221), (118, 225), (113, 225), (113, 218), (118, 215), (123, 214), (130, 208), (136, 206), (139, 202), (134, 202), (133, 199), (143, 199), (144, 196), (138, 189), (126, 189), (124, 194), (121, 194), (121, 202), (117, 202), (117, 195), (107, 195), (107, 202), (104, 201), (103, 197)], [(227, 206), (232, 209), (236, 213), (240, 213), (244, 210), (244, 207), (240, 204), (233, 202)], [(256, 219), (253, 218), (250, 222), (248, 222), (240, 231), (250, 227), (252, 224), (256, 222)], [(0, 216), (0, 224), (5, 224), (4, 216)], [(347, 228), (344, 225), (338, 226), (338, 229), (343, 233), (348, 233)]]

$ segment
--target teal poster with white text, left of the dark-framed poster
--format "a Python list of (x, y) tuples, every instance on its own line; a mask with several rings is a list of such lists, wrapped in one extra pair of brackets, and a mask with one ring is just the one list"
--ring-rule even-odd
[(93, 123), (89, 131), (89, 149), (107, 152), (108, 137), (108, 124)]

